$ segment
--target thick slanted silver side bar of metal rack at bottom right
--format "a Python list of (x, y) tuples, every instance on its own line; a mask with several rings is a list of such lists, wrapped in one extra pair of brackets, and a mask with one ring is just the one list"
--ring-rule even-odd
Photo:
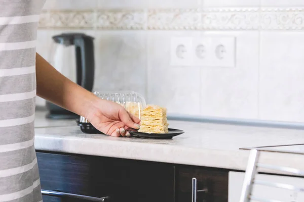
[(245, 172), (245, 179), (242, 187), (240, 202), (249, 202), (252, 191), (252, 184), (256, 174), (257, 162), (259, 158), (259, 151), (252, 149), (249, 154), (247, 169)]

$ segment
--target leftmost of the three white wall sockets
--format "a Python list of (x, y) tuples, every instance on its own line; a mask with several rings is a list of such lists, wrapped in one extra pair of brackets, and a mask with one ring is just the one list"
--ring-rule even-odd
[(192, 37), (171, 38), (171, 66), (192, 66), (193, 64)]

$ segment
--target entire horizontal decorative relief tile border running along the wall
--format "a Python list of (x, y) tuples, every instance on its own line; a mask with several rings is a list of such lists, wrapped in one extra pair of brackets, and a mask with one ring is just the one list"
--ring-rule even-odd
[(304, 30), (304, 8), (44, 11), (40, 29)]

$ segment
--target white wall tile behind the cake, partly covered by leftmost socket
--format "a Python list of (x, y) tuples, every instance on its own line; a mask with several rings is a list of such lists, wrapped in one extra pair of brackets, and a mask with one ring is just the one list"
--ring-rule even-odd
[(148, 103), (167, 108), (168, 114), (199, 115), (200, 69), (170, 66), (170, 38), (198, 36), (192, 31), (148, 33)]

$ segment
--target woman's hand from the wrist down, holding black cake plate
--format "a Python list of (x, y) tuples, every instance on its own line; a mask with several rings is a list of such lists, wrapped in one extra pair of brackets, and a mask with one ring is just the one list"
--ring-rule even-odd
[(86, 113), (86, 118), (99, 131), (110, 136), (130, 136), (127, 128), (139, 129), (140, 120), (121, 105), (97, 98)]

